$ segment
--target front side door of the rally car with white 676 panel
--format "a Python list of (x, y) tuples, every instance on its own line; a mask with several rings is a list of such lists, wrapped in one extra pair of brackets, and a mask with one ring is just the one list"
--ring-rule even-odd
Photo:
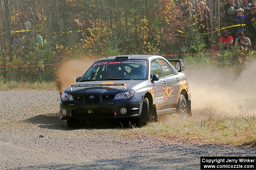
[(168, 87), (168, 83), (157, 60), (151, 62), (151, 75), (153, 74), (157, 74), (159, 76), (158, 81), (152, 82), (154, 104), (156, 105), (157, 110), (167, 109), (169, 98), (166, 94), (164, 94), (164, 91)]

